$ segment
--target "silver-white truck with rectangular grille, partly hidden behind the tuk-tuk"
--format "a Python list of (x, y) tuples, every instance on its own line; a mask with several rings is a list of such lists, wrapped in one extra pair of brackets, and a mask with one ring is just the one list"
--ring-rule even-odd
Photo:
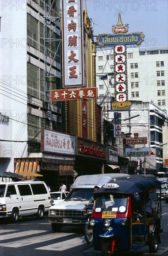
[(87, 222), (85, 204), (88, 204), (94, 186), (101, 187), (106, 182), (116, 179), (128, 179), (128, 174), (97, 174), (77, 177), (71, 186), (71, 192), (65, 201), (51, 206), (49, 209), (49, 222), (52, 230), (59, 232), (63, 225), (84, 225)]

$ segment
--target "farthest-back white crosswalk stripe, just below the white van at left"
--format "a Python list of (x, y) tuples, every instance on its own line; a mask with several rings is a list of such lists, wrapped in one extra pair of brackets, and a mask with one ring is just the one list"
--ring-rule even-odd
[(11, 238), (16, 238), (16, 237), (23, 237), (23, 236), (31, 236), (35, 234), (41, 234), (43, 232), (47, 232), (46, 230), (26, 230), (26, 231), (20, 231), (12, 234), (6, 234), (6, 235), (1, 235), (0, 240), (6, 240), (6, 239), (11, 239)]

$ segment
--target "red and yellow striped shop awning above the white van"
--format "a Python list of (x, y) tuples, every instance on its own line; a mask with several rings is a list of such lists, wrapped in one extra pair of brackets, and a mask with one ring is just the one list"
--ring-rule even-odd
[[(35, 178), (38, 170), (39, 162), (16, 162), (14, 172), (19, 174), (23, 172), (28, 172), (31, 174), (31, 176), (27, 176), (27, 179), (33, 179)], [(21, 174), (23, 175), (23, 174)], [(26, 175), (24, 175), (26, 176)]]

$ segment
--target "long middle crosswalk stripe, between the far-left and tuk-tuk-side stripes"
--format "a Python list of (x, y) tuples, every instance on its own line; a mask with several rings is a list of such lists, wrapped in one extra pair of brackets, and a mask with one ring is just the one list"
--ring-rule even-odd
[[(42, 242), (50, 241), (52, 239), (69, 236), (69, 235), (74, 235), (74, 234), (75, 233), (68, 233), (68, 234), (67, 233), (52, 233), (52, 234), (43, 235), (43, 236), (30, 237), (30, 238), (22, 239), (19, 241), (17, 240), (17, 241), (9, 242), (9, 243), (1, 243), (1, 246), (17, 248), (17, 247), (21, 247), (21, 246), (27, 246), (30, 244), (34, 244), (34, 243), (42, 243)], [(67, 241), (65, 241), (65, 243), (67, 243)]]

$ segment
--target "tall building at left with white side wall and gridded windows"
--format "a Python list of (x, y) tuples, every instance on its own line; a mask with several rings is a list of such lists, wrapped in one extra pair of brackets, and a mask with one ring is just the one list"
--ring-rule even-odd
[(40, 152), (41, 128), (62, 130), (49, 96), (61, 88), (59, 1), (3, 1), (0, 21), (0, 168), (13, 172), (14, 159)]

